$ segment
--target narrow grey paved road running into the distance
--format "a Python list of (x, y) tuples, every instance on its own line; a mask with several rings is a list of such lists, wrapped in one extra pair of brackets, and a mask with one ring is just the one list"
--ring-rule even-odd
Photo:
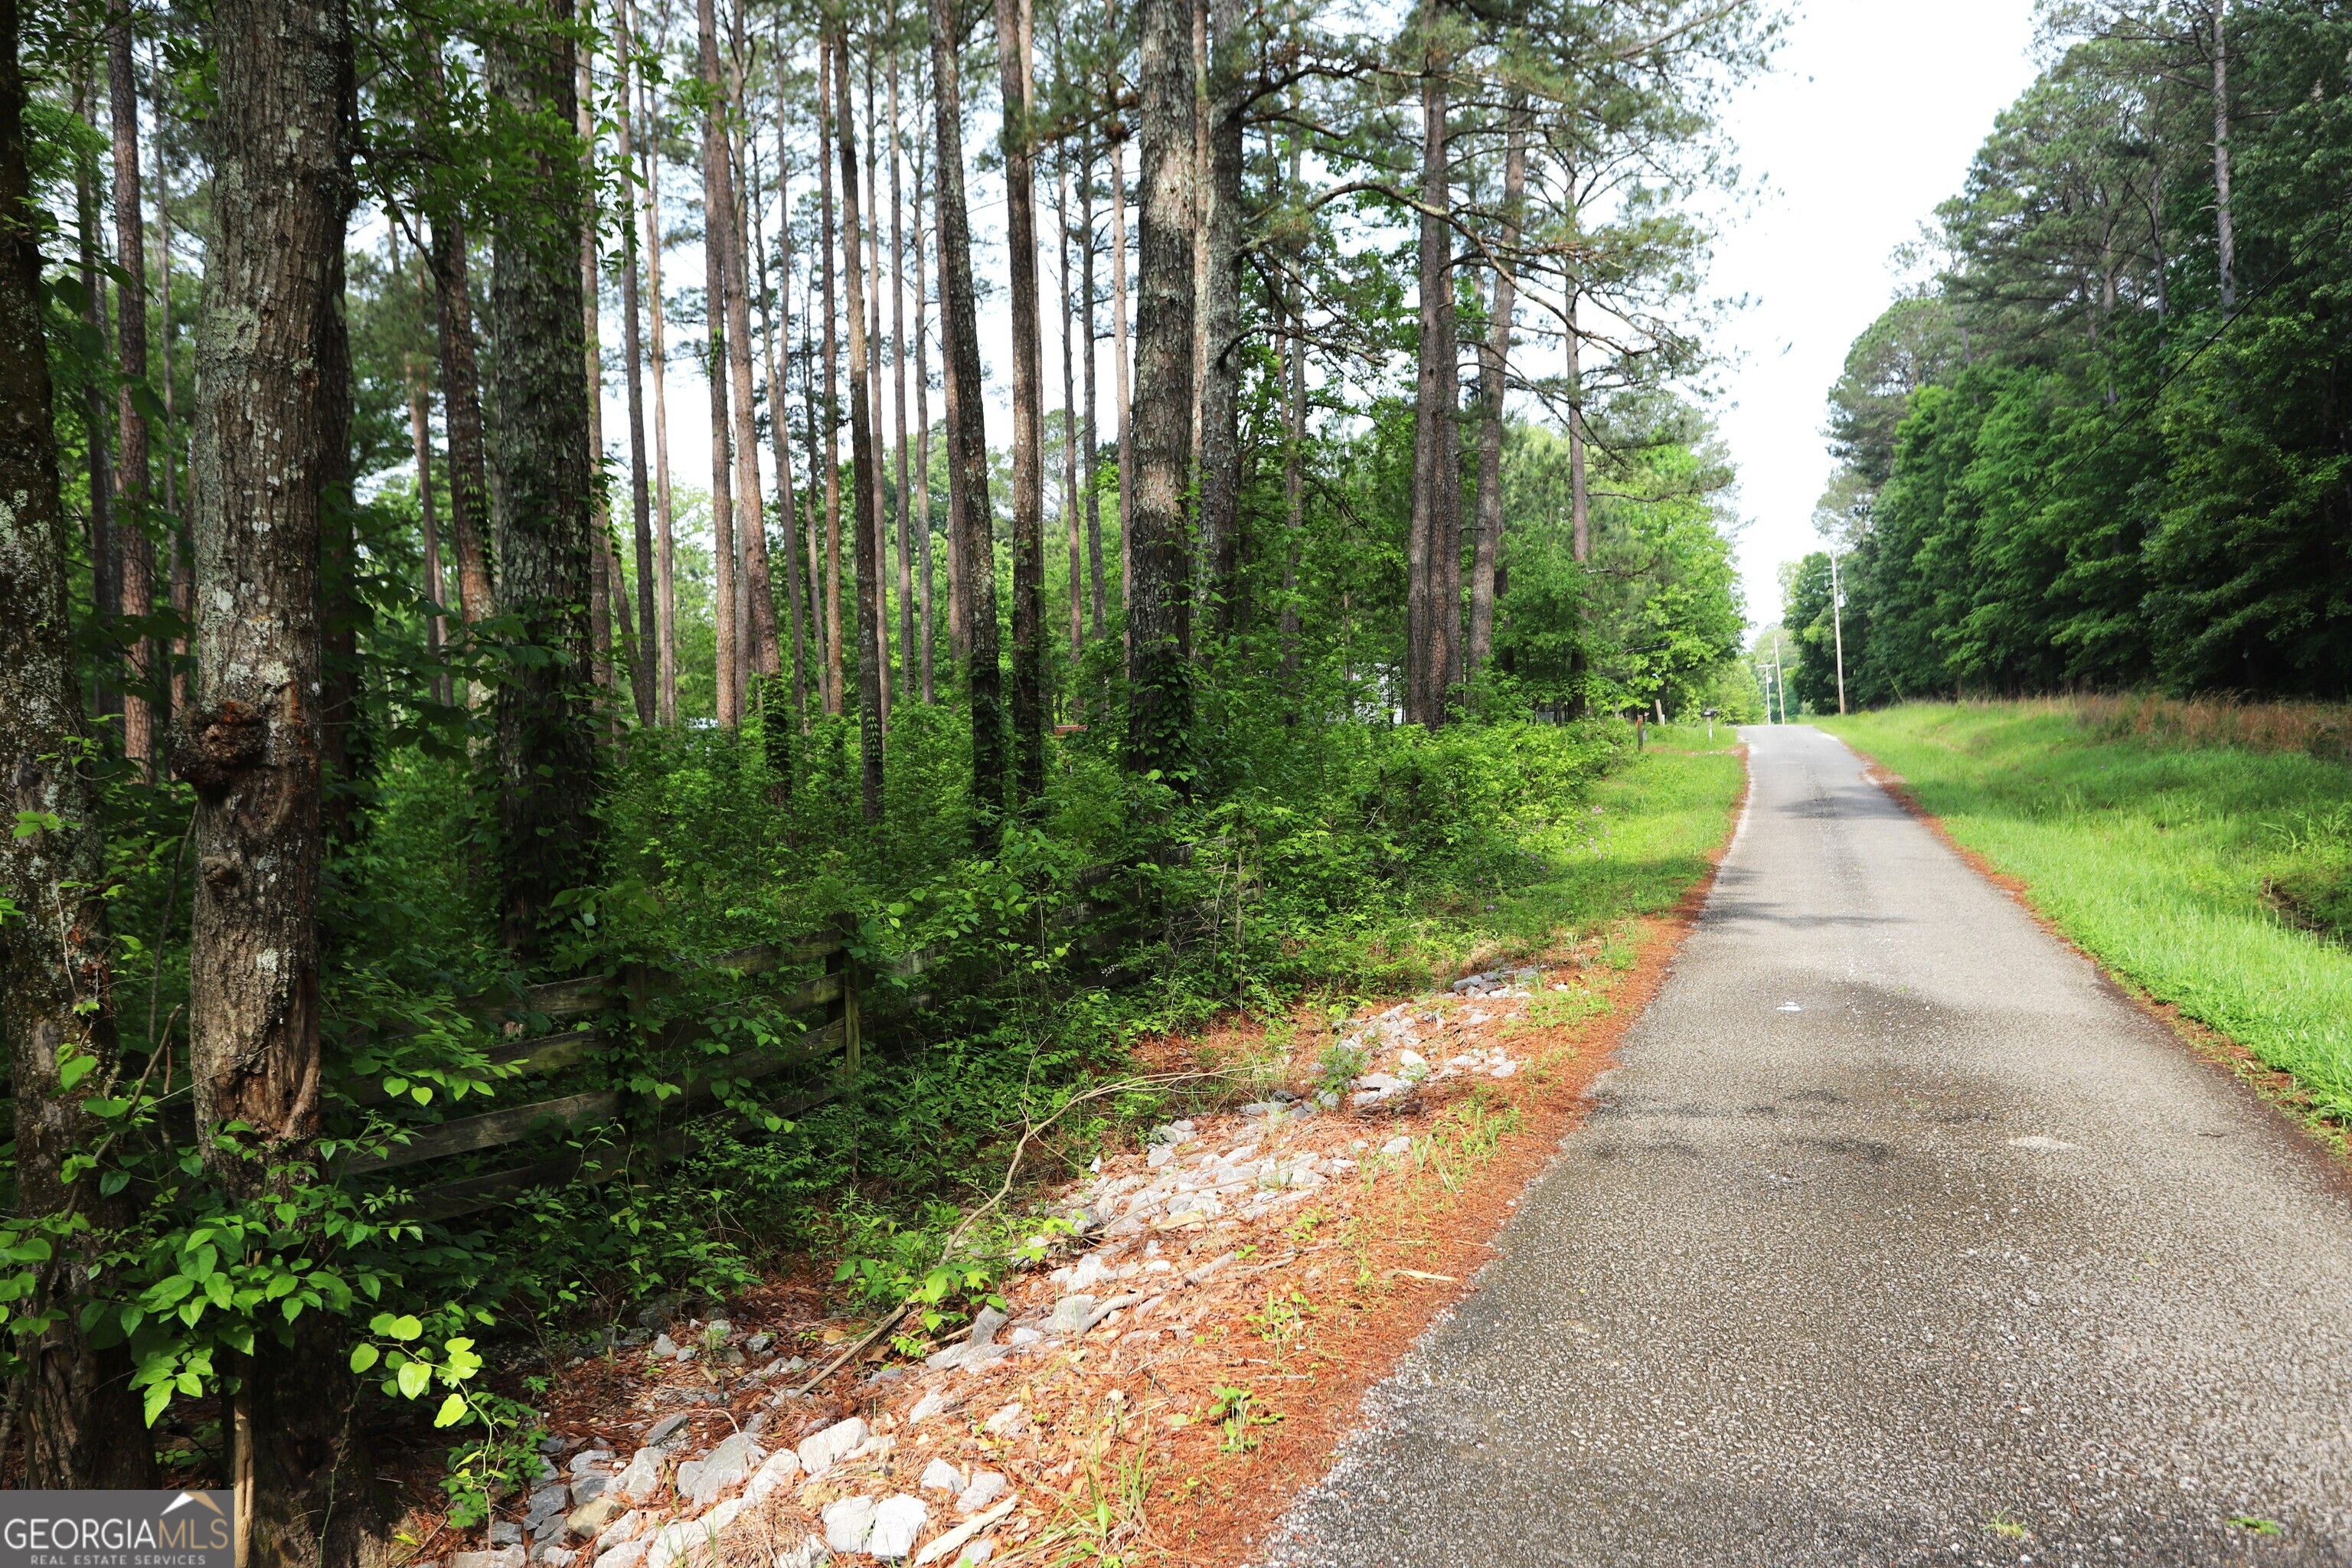
[(2352, 1185), (1844, 745), (1748, 741), (1592, 1117), (1270, 1559), (2352, 1563)]

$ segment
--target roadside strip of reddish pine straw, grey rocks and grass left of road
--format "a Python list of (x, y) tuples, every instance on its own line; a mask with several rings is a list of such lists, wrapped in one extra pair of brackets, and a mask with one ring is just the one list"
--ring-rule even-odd
[[(724, 1302), (680, 1305), (673, 1342), (691, 1345), (724, 1316), (720, 1354), (656, 1359), (652, 1321), (621, 1335), (630, 1342), (550, 1345), (546, 1427), (569, 1455), (612, 1450), (607, 1467), (656, 1432), (668, 1443), (656, 1469), (734, 1432), (767, 1455), (849, 1418), (870, 1439), (821, 1481), (797, 1474), (757, 1507), (720, 1514), (727, 1493), (661, 1493), (626, 1523), (574, 1537), (574, 1568), (666, 1526), (691, 1537), (706, 1519), (724, 1519), (722, 1563), (764, 1568), (823, 1528), (826, 1505), (898, 1493), (924, 1502), (934, 1540), (983, 1512), (924, 1490), (934, 1460), (967, 1481), (1009, 1481), (1011, 1512), (985, 1530), (997, 1563), (1244, 1561), (1282, 1500), (1319, 1474), (1362, 1389), (1468, 1291), (1489, 1258), (1484, 1237), (1653, 992), (1682, 929), (1661, 914), (1689, 907), (1729, 837), (1743, 778), (1731, 741), (1719, 731), (1710, 748), (1693, 731), (1625, 759), (1592, 788), (1573, 832), (1543, 846), (1541, 877), (1411, 933), (1486, 973), (1501, 954), (1526, 959), (1484, 997), (1430, 992), (1423, 969), (1421, 985), (1376, 999), (1317, 992), (1282, 1013), (1225, 1013), (1138, 1041), (1096, 1074), (1103, 1091), (1134, 1088), (1035, 1126), (1035, 1180), (974, 1232), (993, 1239), (976, 1248), (988, 1262), (974, 1276), (927, 1272), (957, 1222), (938, 1206), (844, 1227), (840, 1269), (802, 1258)], [(1399, 992), (1411, 999), (1392, 1001)], [(1359, 1105), (1362, 1084), (1383, 1084), (1367, 1074), (1404, 1084)], [(1277, 1095), (1284, 1110), (1268, 1114)], [(1329, 1100), (1317, 1107), (1317, 1095)], [(1080, 1121), (1096, 1107), (1105, 1114)], [(1174, 1147), (1148, 1157), (1148, 1131), (1169, 1121), (1160, 1143)], [(1251, 1175), (1176, 1190), (1178, 1173), (1211, 1166)], [(1002, 1171), (976, 1173), (974, 1192)], [(1089, 1274), (1056, 1274), (1089, 1258)], [(1051, 1331), (1075, 1293), (1110, 1314)], [(962, 1342), (983, 1298), (1009, 1312), (1004, 1340), (1021, 1352), (974, 1371), (927, 1366)], [(847, 1368), (795, 1392), (851, 1347)], [(684, 1420), (663, 1427), (670, 1415)], [(517, 1493), (501, 1514), (524, 1507)], [(412, 1530), (419, 1559), (482, 1535), (421, 1519)]]

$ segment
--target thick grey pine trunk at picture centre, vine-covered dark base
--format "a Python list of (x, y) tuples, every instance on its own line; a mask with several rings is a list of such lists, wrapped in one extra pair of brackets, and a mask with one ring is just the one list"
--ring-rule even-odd
[(1192, 731), (1192, 68), (1185, 0), (1138, 0), (1136, 494), (1127, 512), (1127, 766), (1183, 790)]

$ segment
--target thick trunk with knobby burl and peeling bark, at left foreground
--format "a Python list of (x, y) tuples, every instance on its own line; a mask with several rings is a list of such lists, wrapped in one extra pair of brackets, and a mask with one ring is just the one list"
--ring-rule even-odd
[[(320, 512), (348, 463), (336, 407), (348, 360), (336, 360), (353, 56), (339, 5), (226, 0), (212, 26), (191, 465), (202, 696), (174, 755), (198, 795), (188, 1032), (200, 1152), (228, 1194), (268, 1199), (299, 1180), (320, 1131)], [(343, 1418), (350, 1380), (334, 1340), (325, 1314), (306, 1314), (238, 1368), (252, 1561), (348, 1563), (369, 1523), (374, 1465)]]

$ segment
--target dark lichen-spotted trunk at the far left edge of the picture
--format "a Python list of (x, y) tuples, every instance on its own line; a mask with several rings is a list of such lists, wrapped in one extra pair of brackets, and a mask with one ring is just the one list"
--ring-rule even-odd
[(54, 823), (0, 842), (0, 893), (21, 912), (0, 922), (0, 1037), (14, 1074), (16, 1213), (78, 1213), (92, 1229), (68, 1237), (35, 1269), (35, 1295), (16, 1302), (19, 1312), (59, 1312), (45, 1333), (16, 1342), (26, 1434), (19, 1486), (148, 1488), (155, 1446), (129, 1389), (129, 1347), (94, 1349), (75, 1316), (103, 1232), (125, 1215), (120, 1199), (99, 1194), (96, 1171), (66, 1180), (68, 1157), (94, 1150), (103, 1133), (82, 1110), (89, 1091), (66, 1084), (59, 1070), (89, 1058), (85, 1081), (103, 1084), (115, 1072), (113, 940), (101, 898), (106, 832), (78, 764), (89, 726), (73, 672), (71, 552), (21, 61), (16, 0), (0, 0), (0, 496), (9, 498), (0, 508), (0, 776), (14, 813)]

